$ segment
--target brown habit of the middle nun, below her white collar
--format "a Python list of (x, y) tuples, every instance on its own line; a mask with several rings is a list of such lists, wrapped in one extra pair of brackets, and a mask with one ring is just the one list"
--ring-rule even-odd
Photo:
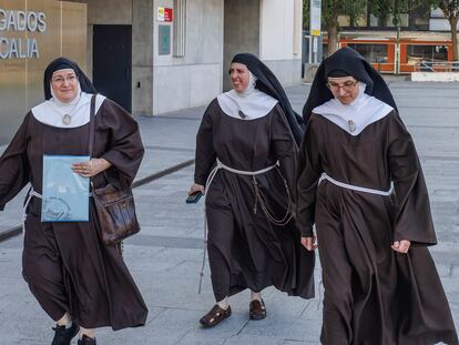
[[(296, 143), (277, 104), (265, 116), (242, 120), (225, 114), (214, 100), (207, 108), (196, 142), (194, 181), (204, 185), (216, 158), (233, 169), (257, 171), (278, 160), (290, 194), (295, 190)], [(277, 170), (257, 175), (267, 205), (277, 217), (288, 199)], [(276, 288), (314, 296), (314, 254), (300, 246), (294, 220), (273, 225), (257, 207), (252, 176), (220, 170), (206, 196), (208, 261), (216, 301), (244, 288)]]

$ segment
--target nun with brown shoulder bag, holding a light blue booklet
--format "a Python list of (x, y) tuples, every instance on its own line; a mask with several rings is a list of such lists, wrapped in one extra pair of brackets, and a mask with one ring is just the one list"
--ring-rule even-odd
[[(45, 101), (27, 113), (0, 159), (0, 210), (28, 183), (34, 191), (26, 210), (22, 274), (58, 323), (52, 345), (69, 345), (80, 327), (78, 344), (93, 345), (93, 328), (141, 326), (147, 314), (122, 255), (101, 241), (92, 200), (89, 222), (41, 222), (43, 155), (88, 155), (92, 93), (76, 63), (52, 61), (44, 72)], [(95, 187), (130, 185), (143, 156), (137, 123), (100, 94), (94, 121), (93, 159), (73, 164), (73, 172), (93, 177)]]

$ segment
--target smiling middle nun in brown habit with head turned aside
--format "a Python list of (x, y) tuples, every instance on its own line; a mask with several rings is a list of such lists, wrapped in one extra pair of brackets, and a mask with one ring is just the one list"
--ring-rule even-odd
[(237, 54), (230, 74), (233, 90), (211, 102), (197, 132), (190, 191), (206, 194), (216, 304), (201, 318), (204, 327), (228, 317), (227, 297), (245, 288), (252, 319), (266, 316), (261, 292), (267, 286), (314, 296), (314, 253), (302, 247), (293, 219), (302, 119), (255, 55)]

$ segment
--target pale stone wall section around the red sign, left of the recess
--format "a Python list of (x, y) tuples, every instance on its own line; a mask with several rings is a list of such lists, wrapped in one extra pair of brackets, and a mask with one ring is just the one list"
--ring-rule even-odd
[[(173, 7), (172, 0), (153, 3), (154, 16), (157, 7)], [(222, 91), (223, 9), (223, 0), (186, 1), (186, 52), (178, 58), (173, 57), (172, 48), (171, 54), (159, 54), (157, 28), (164, 23), (157, 22), (155, 16), (153, 114), (208, 103)]]

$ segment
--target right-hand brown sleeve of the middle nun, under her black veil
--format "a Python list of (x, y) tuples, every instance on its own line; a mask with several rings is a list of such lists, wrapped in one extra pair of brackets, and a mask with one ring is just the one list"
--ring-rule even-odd
[(280, 105), (276, 104), (274, 111), (276, 116), (274, 116), (271, 129), (273, 150), (279, 161), (282, 175), (287, 181), (292, 201), (295, 202), (295, 173), (298, 149)]

